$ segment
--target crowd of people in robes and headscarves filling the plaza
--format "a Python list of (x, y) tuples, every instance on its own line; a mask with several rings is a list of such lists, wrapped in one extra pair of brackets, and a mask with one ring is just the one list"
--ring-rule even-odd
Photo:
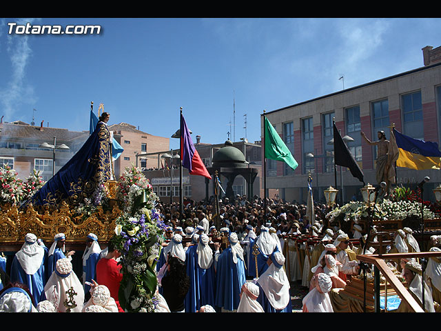
[[(376, 252), (365, 248), (367, 233), (360, 224), (329, 223), (327, 205), (315, 203), (310, 220), (302, 203), (238, 196), (224, 198), (216, 209), (211, 202), (186, 200), (182, 211), (178, 203), (155, 207), (167, 225), (156, 263), (158, 312), (293, 312), (294, 284), (307, 292), (302, 312), (334, 312), (329, 294), (360, 274), (356, 255)], [(375, 228), (369, 236), (376, 241)], [(112, 240), (102, 250), (92, 233), (86, 242), (78, 277), (63, 234), (54, 237), (50, 249), (27, 234), (10, 274), (0, 263), (0, 311), (123, 312), (121, 254)], [(440, 251), (441, 237), (432, 236), (430, 245)], [(387, 252), (420, 252), (420, 247), (412, 230), (404, 228), (396, 231)], [(429, 259), (424, 289), (421, 262), (388, 261), (424, 310), (439, 311), (441, 261)], [(396, 311), (409, 307), (400, 304)]]

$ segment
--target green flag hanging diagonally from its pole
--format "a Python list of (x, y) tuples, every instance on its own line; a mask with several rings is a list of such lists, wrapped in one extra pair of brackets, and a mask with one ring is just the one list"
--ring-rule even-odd
[(289, 165), (292, 170), (296, 170), (298, 163), (291, 152), (278, 135), (276, 129), (271, 126), (267, 117), (265, 118), (265, 157), (267, 159), (283, 161)]

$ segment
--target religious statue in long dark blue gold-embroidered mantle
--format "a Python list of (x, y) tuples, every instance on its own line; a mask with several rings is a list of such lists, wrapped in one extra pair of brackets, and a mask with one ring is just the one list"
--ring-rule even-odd
[(108, 112), (101, 114), (80, 150), (24, 205), (58, 205), (62, 201), (78, 205), (92, 197), (100, 184), (113, 178), (109, 118)]

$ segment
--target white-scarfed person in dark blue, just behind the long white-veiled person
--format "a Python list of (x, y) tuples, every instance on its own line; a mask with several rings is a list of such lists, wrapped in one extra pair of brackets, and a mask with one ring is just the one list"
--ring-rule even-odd
[[(255, 255), (255, 250), (258, 253), (257, 256)], [(260, 274), (263, 274), (263, 272), (265, 272), (268, 268), (267, 261), (269, 259), (269, 255), (275, 251), (278, 251), (278, 243), (274, 241), (274, 238), (269, 233), (269, 229), (262, 225), (260, 227), (260, 234), (258, 235), (257, 239), (252, 242), (249, 248), (250, 259), (249, 268), (247, 270), (248, 276), (256, 279), (260, 276)]]

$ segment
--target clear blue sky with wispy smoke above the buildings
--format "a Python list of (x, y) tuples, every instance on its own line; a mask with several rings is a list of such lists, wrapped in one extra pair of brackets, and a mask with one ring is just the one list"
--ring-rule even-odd
[[(101, 33), (8, 34), (10, 22)], [(110, 124), (170, 137), (183, 107), (194, 141), (223, 143), (230, 126), (236, 141), (256, 141), (264, 109), (342, 90), (342, 75), (351, 88), (420, 68), (440, 30), (427, 18), (0, 19), (0, 116), (88, 130), (94, 101)]]

